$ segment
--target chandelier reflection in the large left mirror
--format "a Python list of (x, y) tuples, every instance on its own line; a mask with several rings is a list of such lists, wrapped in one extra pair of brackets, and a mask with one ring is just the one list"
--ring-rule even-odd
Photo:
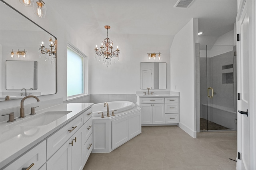
[(49, 48), (46, 48), (44, 46), (44, 42), (42, 42), (42, 44), (39, 45), (39, 52), (40, 52), (39, 57), (42, 57), (42, 54), (44, 55), (44, 61), (47, 61), (47, 60), (51, 59), (51, 63), (55, 64), (55, 59), (56, 59), (56, 40), (53, 41), (52, 38), (50, 37)]

